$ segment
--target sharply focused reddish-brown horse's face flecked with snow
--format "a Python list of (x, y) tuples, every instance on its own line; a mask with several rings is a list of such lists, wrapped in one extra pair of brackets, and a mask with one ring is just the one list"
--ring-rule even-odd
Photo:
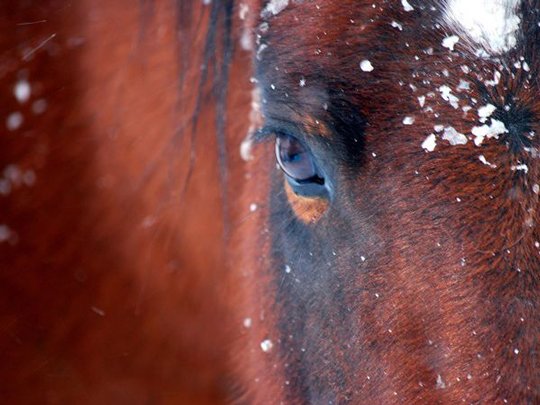
[(459, 1), (296, 3), (258, 28), (282, 170), (258, 148), (249, 378), (285, 403), (538, 398), (538, 2), (476, 37)]

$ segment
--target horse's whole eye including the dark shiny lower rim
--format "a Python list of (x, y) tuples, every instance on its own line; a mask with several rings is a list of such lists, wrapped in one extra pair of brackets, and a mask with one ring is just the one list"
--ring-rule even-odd
[(317, 169), (313, 154), (302, 142), (290, 135), (278, 135), (276, 158), (297, 194), (322, 194), (324, 178)]

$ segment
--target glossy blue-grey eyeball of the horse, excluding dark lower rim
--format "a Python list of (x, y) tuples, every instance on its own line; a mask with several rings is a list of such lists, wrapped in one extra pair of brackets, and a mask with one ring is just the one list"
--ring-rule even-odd
[(292, 136), (278, 136), (276, 157), (285, 174), (295, 180), (308, 180), (317, 175), (310, 151)]

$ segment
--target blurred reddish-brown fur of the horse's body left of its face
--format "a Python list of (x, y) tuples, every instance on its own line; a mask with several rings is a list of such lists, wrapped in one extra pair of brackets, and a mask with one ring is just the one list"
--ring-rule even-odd
[[(0, 402), (223, 403), (231, 338), (214, 114), (203, 109), (191, 144), (198, 68), (179, 88), (204, 35), (193, 28), (179, 43), (172, 1), (38, 3), (0, 5), (0, 175), (35, 173), (0, 196), (12, 233), (0, 243)], [(208, 12), (197, 2), (185, 18), (204, 26)], [(247, 53), (237, 58), (231, 85), (247, 95), (231, 103), (247, 115)], [(13, 96), (19, 78), (32, 88), (25, 104)], [(9, 132), (14, 111), (24, 123)]]

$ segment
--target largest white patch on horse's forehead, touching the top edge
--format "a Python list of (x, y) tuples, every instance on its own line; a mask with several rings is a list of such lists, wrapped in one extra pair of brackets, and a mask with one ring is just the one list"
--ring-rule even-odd
[(521, 0), (448, 0), (444, 20), (481, 47), (480, 56), (508, 52), (517, 44), (521, 22), (517, 8)]

